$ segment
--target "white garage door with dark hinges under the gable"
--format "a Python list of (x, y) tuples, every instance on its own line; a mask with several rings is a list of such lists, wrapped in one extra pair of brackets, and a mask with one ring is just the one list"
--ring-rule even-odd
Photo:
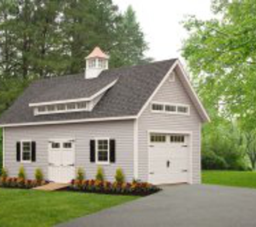
[(150, 134), (149, 182), (185, 183), (189, 180), (189, 136)]

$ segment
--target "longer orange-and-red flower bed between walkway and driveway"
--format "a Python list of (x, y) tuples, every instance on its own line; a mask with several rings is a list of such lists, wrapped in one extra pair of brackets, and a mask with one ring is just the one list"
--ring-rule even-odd
[(112, 183), (98, 180), (72, 180), (68, 190), (112, 195), (147, 196), (161, 189), (146, 182)]

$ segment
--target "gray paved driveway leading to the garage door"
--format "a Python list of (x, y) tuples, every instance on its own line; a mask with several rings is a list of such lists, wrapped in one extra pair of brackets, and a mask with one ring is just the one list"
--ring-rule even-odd
[(255, 227), (256, 190), (221, 186), (165, 186), (160, 193), (59, 227)]

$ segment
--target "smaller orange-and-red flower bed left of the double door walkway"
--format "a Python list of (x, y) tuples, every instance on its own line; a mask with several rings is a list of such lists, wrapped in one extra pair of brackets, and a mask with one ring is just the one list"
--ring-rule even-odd
[(19, 188), (19, 189), (31, 189), (39, 186), (43, 186), (49, 183), (48, 181), (41, 180), (24, 180), (19, 178), (0, 178), (0, 187), (2, 188)]

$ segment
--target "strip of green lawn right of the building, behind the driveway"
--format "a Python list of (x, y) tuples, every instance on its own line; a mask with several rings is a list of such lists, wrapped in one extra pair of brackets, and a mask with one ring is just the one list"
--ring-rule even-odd
[(256, 188), (256, 172), (203, 171), (203, 183)]

